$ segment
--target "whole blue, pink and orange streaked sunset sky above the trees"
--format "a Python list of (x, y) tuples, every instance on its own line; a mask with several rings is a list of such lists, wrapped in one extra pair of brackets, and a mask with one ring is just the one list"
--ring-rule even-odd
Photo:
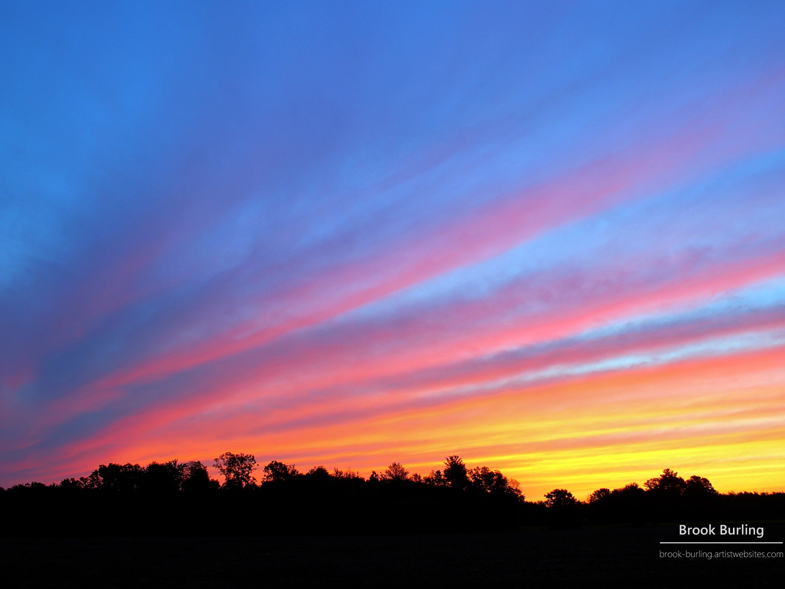
[(0, 485), (230, 451), (785, 490), (783, 22), (0, 0)]

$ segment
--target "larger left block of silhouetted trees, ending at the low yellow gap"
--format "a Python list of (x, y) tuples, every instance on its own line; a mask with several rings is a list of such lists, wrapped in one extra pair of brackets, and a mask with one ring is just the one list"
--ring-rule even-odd
[[(392, 463), (367, 479), (315, 466), (301, 473), (226, 452), (211, 479), (199, 462), (108, 464), (59, 484), (0, 492), (5, 535), (177, 535), (396, 533), (511, 529), (521, 524), (520, 485), (498, 470), (444, 468), (410, 474)], [(254, 476), (261, 470), (261, 484)]]

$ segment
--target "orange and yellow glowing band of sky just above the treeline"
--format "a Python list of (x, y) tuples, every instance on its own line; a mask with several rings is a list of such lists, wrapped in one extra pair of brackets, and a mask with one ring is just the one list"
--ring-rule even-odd
[[(338, 425), (309, 422), (304, 408), (302, 426), (277, 433), (248, 418), (231, 419), (210, 435), (192, 418), (172, 423), (164, 416), (143, 443), (117, 444), (126, 436), (139, 439), (133, 422), (150, 425), (140, 418), (114, 428), (98, 445), (111, 448), (115, 462), (177, 457), (211, 463), (220, 448), (252, 452), (261, 465), (278, 459), (301, 470), (352, 467), (364, 476), (392, 461), (428, 474), (444, 455), (457, 453), (469, 466), (516, 478), (531, 500), (556, 487), (585, 498), (600, 487), (642, 485), (666, 467), (707, 477), (720, 492), (782, 491), (783, 360), (780, 348), (608, 372), (421, 407), (391, 405), (384, 416)], [(61, 462), (86, 471), (97, 466), (87, 456), (96, 453), (75, 444)]]

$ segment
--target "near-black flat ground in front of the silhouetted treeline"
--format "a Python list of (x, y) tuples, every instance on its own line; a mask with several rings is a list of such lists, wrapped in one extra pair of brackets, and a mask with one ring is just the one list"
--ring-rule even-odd
[[(783, 540), (785, 525), (763, 525), (763, 540)], [(660, 557), (685, 549), (781, 552), (783, 544), (680, 547), (663, 540), (685, 538), (673, 525), (411, 536), (3, 538), (0, 579), (14, 579), (13, 587), (783, 587), (785, 558)]]

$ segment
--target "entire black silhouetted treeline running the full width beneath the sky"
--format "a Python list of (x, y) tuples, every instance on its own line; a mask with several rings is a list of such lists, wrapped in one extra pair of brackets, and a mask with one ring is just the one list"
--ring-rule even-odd
[[(456, 456), (429, 474), (392, 463), (367, 479), (353, 470), (272, 461), (250, 454), (203, 463), (108, 464), (89, 476), (0, 488), (5, 535), (175, 535), (466, 532), (524, 525), (644, 525), (671, 521), (785, 518), (785, 493), (721, 495), (703, 477), (663, 470), (641, 487), (601, 488), (586, 501), (556, 488), (526, 501), (520, 485)], [(259, 481), (254, 474), (259, 475)]]

